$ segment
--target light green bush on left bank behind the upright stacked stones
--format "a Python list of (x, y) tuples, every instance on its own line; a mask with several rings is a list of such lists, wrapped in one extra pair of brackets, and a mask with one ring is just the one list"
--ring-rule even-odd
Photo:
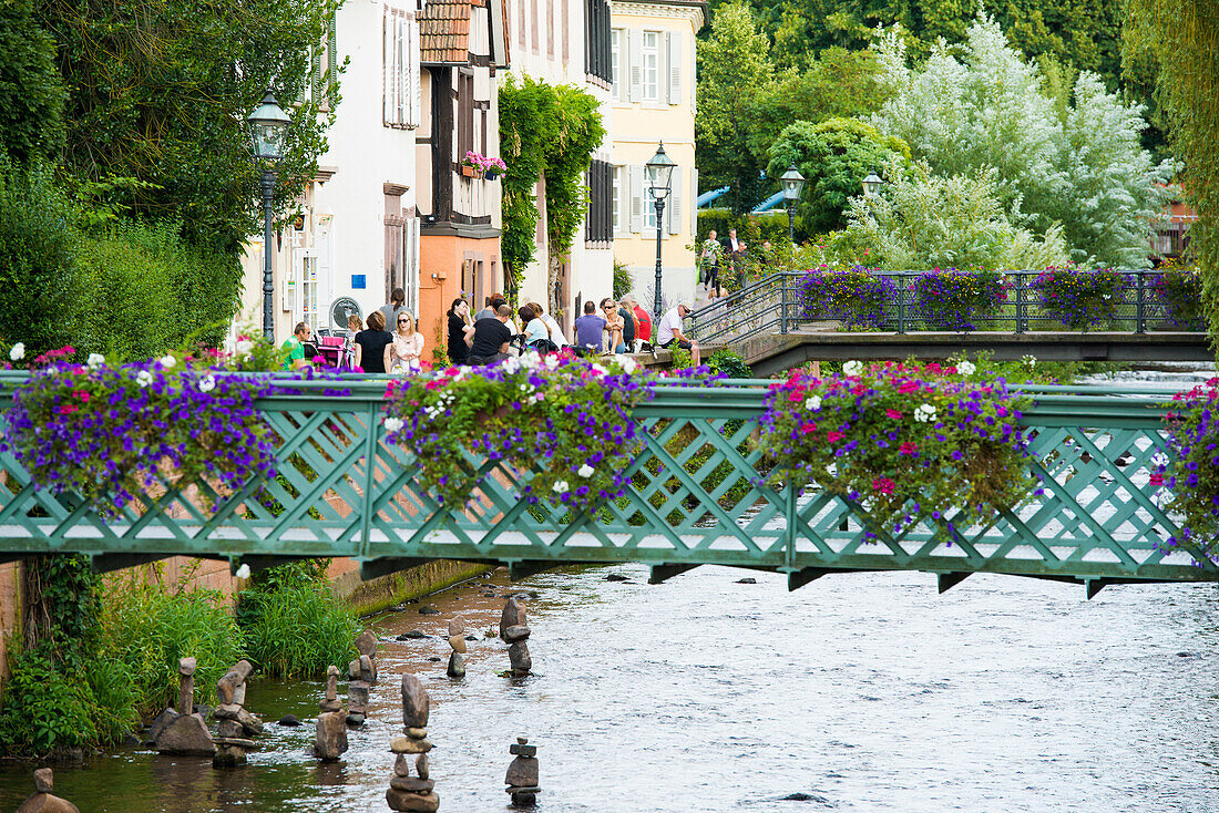
[(115, 579), (102, 601), (99, 661), (117, 668), (133, 689), (130, 702), (143, 714), (174, 706), (178, 659), (193, 657), (196, 696), (243, 655), (245, 637), (217, 590), (166, 590), (139, 577)]

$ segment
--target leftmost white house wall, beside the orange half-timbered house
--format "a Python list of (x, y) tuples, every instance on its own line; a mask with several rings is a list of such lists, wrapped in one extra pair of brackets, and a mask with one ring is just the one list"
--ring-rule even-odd
[[(344, 60), (346, 69), (329, 149), (297, 201), (302, 215), (272, 246), (277, 341), (297, 322), (345, 329), (347, 311), (367, 316), (397, 286), (418, 310), (418, 40), (413, 0), (346, 0), (318, 49), (315, 69), (324, 76)], [(241, 317), (255, 325), (262, 324), (262, 240), (251, 240), (243, 263)], [(340, 324), (332, 324), (333, 310)]]

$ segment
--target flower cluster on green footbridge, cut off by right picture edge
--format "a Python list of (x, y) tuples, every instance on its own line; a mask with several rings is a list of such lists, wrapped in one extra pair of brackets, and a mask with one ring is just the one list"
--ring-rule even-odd
[(1182, 539), (1219, 562), (1219, 378), (1173, 396), (1167, 416), (1171, 457), (1154, 460), (1153, 486), (1171, 491), (1170, 507), (1185, 514)]

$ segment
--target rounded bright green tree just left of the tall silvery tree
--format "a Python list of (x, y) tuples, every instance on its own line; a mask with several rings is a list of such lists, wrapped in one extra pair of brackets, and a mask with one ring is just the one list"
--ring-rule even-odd
[(819, 124), (796, 122), (786, 127), (770, 147), (767, 174), (780, 177), (795, 165), (805, 176), (797, 215), (806, 233), (844, 228), (842, 210), (863, 193), (863, 178), (894, 157), (909, 162), (906, 141), (881, 135), (857, 118), (828, 118)]

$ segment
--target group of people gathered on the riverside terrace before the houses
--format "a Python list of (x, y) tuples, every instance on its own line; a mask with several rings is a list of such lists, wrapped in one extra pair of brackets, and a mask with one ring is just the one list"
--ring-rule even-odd
[[(580, 355), (629, 353), (650, 351), (652, 318), (634, 296), (616, 301), (606, 297), (597, 305), (584, 302), (584, 313), (574, 324), (575, 341), (569, 343), (563, 328), (539, 302), (522, 305), (513, 313), (503, 294), (486, 297), (485, 307), (471, 316), (469, 302), (455, 299), (449, 307), (449, 361), (453, 364), (490, 364), (510, 355), (533, 350), (557, 352), (570, 347)], [(656, 325), (655, 343), (666, 349), (689, 350), (697, 363), (698, 345), (685, 336), (681, 319), (691, 312), (688, 301), (679, 302)], [(390, 329), (393, 325), (393, 329)], [(390, 301), (373, 311), (361, 323), (358, 316), (347, 318), (347, 335), (339, 367), (362, 369), (366, 373), (410, 374), (423, 369), (424, 338), (414, 314), (406, 307), (406, 293), (395, 288)], [(312, 329), (300, 322), (284, 343), (288, 350), (285, 367), (295, 369), (312, 363), (318, 355)]]

